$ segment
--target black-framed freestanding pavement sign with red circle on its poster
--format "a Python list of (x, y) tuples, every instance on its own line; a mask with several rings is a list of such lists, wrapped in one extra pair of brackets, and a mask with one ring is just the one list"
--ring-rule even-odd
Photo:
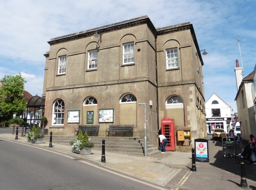
[(208, 140), (195, 139), (195, 160), (209, 162)]

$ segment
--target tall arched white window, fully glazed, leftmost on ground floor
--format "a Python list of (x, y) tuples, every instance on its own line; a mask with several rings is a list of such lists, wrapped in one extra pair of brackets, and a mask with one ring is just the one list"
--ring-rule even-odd
[(64, 125), (64, 101), (59, 99), (53, 104), (52, 125)]

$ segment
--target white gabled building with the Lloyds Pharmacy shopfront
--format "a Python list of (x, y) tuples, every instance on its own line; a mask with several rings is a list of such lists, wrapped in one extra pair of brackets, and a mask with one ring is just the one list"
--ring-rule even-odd
[(228, 133), (231, 123), (230, 106), (215, 93), (205, 102), (207, 133), (221, 128)]

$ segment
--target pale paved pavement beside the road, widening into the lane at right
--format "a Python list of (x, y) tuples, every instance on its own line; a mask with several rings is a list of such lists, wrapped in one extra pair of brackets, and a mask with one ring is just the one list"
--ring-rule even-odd
[[(93, 148), (91, 155), (80, 155), (71, 152), (70, 145), (53, 143), (52, 147), (50, 148), (48, 142), (44, 142), (43, 144), (34, 144), (31, 142), (27, 142), (26, 137), (21, 137), (20, 134), (18, 135), (17, 140), (15, 140), (15, 137), (15, 134), (0, 134), (0, 139), (15, 141), (19, 143), (26, 143), (31, 146), (45, 148), (47, 150), (68, 155), (74, 159), (89, 160), (111, 170), (119, 171), (124, 174), (143, 179), (154, 184), (158, 184), (160, 186), (163, 186), (163, 189), (197, 189), (200, 186), (200, 184), (197, 183), (197, 180), (199, 179), (202, 179), (200, 183), (201, 185), (204, 184), (205, 187), (202, 187), (200, 189), (217, 190), (224, 189), (225, 186), (232, 189), (241, 189), (239, 184), (239, 171), (233, 171), (230, 169), (230, 167), (226, 168), (229, 163), (232, 163), (234, 167), (238, 168), (240, 167), (240, 164), (237, 164), (236, 160), (233, 158), (232, 161), (228, 160), (231, 158), (223, 159), (222, 147), (220, 147), (220, 142), (212, 143), (212, 141), (209, 141), (209, 149), (212, 149), (212, 153), (210, 154), (210, 162), (196, 162), (197, 171), (191, 171), (191, 152), (167, 151), (165, 154), (159, 153), (156, 156), (147, 158), (144, 156), (136, 156), (126, 153), (105, 152), (106, 162), (104, 163), (101, 162), (102, 152)], [(243, 147), (243, 144), (241, 144), (241, 147)], [(238, 149), (236, 152), (239, 153), (240, 149)], [(225, 165), (222, 166), (221, 164)], [(234, 167), (232, 168), (235, 169)], [(254, 168), (252, 169), (252, 172), (255, 171), (256, 165), (250, 164), (250, 167)], [(255, 172), (253, 173), (253, 175), (254, 174)], [(233, 176), (231, 179), (229, 178), (230, 175)], [(187, 183), (185, 184), (186, 180)], [(250, 179), (247, 179), (247, 181), (249, 181), (250, 183), (247, 189), (256, 189), (255, 177), (250, 176)], [(188, 182), (190, 183), (190, 185), (188, 184)], [(220, 188), (214, 187), (216, 182), (220, 182), (222, 186)]]

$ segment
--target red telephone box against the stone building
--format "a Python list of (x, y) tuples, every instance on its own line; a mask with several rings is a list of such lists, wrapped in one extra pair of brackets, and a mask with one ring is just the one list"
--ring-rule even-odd
[(166, 150), (176, 150), (174, 119), (164, 118), (161, 121), (161, 134), (163, 134), (168, 141), (165, 146)]

